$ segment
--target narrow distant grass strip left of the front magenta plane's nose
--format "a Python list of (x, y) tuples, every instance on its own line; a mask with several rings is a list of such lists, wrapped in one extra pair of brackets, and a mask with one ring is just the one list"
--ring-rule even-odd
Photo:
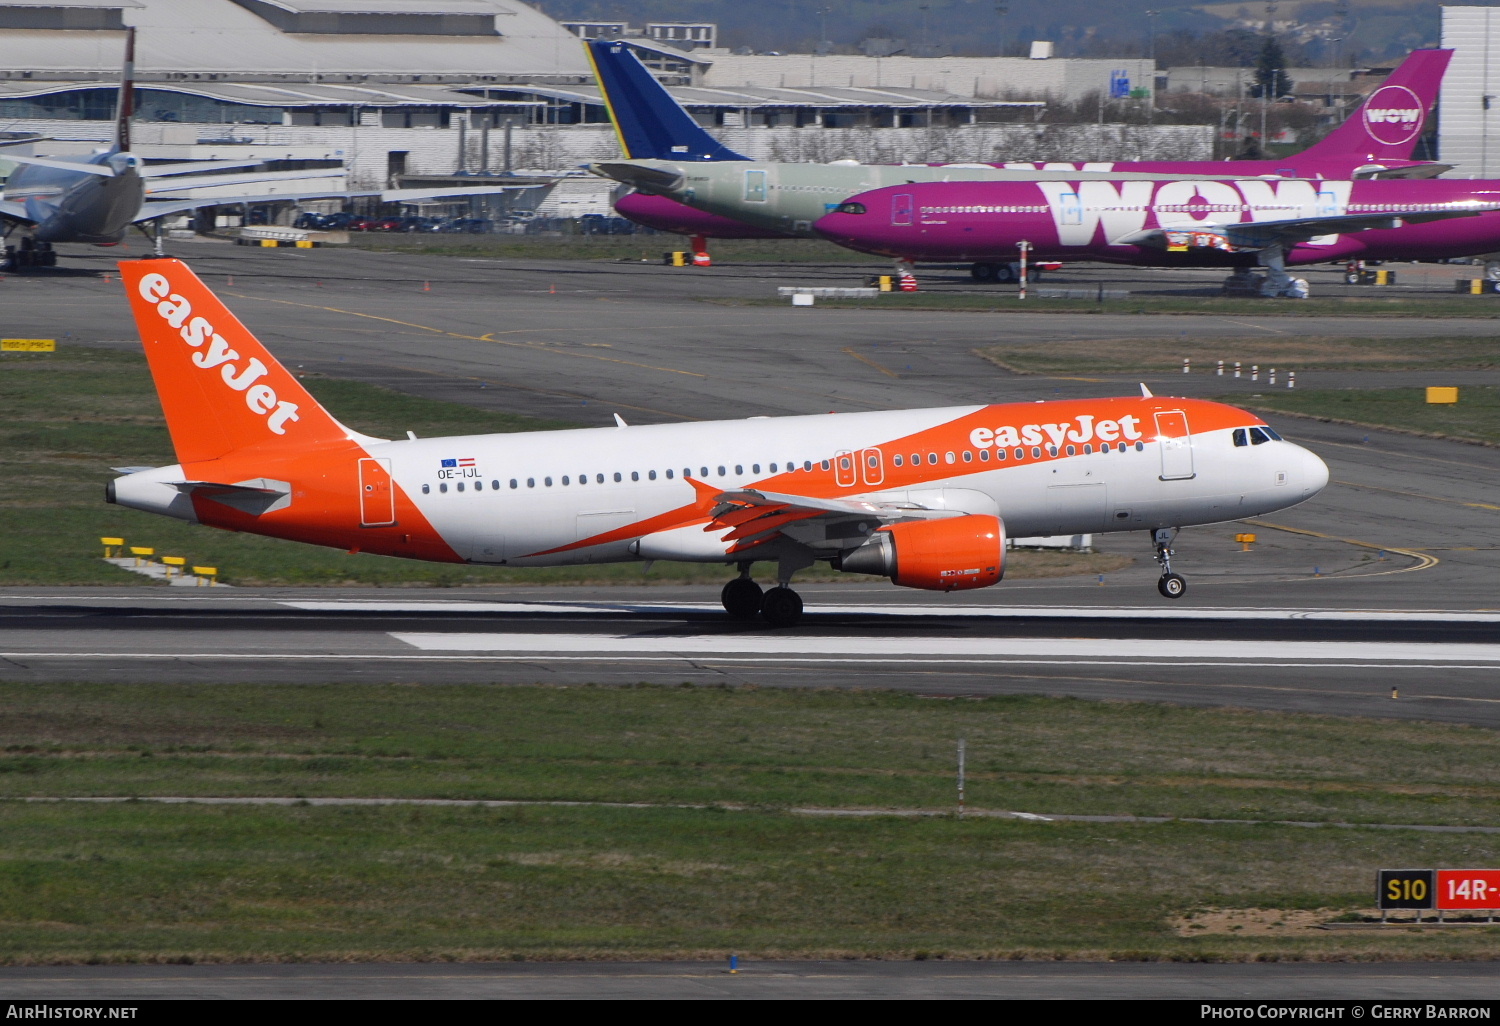
[[(686, 236), (441, 236), (350, 232), (356, 249), (432, 254), (434, 256), (492, 256), (506, 260), (612, 260), (660, 264), (662, 254), (688, 249)], [(716, 262), (776, 264), (888, 264), (822, 238), (712, 238)]]

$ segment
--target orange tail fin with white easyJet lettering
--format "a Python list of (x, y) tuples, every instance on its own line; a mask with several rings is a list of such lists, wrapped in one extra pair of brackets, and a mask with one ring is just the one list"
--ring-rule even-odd
[(178, 462), (352, 438), (186, 264), (123, 261), (120, 276)]

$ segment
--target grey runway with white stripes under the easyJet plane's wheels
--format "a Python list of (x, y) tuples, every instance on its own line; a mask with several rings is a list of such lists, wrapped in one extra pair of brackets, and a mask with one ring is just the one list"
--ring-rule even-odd
[(906, 604), (812, 585), (802, 627), (777, 632), (672, 590), (645, 600), (524, 591), (10, 592), (0, 596), (0, 680), (1050, 693), (1500, 726), (1494, 610)]

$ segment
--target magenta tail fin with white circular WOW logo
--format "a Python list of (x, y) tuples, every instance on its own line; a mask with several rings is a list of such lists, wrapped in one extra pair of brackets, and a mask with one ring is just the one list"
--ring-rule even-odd
[(1410, 160), (1452, 56), (1452, 50), (1413, 50), (1347, 122), (1300, 156)]

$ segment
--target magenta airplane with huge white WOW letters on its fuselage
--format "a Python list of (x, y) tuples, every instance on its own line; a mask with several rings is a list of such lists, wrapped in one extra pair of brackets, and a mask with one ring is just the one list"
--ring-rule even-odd
[(1305, 298), (1288, 264), (1492, 254), (1497, 210), (1490, 180), (932, 182), (850, 196), (816, 230), (906, 262), (998, 267), (1024, 242), (1035, 260), (1262, 266), (1263, 296)]

